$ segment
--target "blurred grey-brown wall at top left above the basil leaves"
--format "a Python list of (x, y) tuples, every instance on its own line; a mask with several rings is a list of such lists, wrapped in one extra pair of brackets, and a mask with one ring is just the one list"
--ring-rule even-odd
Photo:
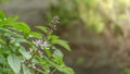
[(18, 15), (18, 21), (29, 25), (41, 25), (44, 23), (44, 12), (49, 8), (49, 0), (9, 0), (0, 4), (0, 9), (8, 16)]

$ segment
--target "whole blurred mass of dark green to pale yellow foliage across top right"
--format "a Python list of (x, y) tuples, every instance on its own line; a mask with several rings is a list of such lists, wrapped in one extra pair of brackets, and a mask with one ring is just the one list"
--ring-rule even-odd
[[(87, 29), (100, 34), (110, 26), (114, 32), (117, 26), (126, 30), (123, 24), (129, 24), (129, 0), (57, 0), (58, 4), (51, 8), (51, 14), (63, 17), (69, 25), (81, 20)], [(69, 7), (69, 8), (68, 8)], [(69, 9), (69, 10), (68, 10)], [(58, 12), (60, 11), (60, 12)], [(66, 24), (62, 22), (63, 24)], [(123, 28), (125, 27), (125, 28)], [(116, 32), (120, 34), (119, 32)]]

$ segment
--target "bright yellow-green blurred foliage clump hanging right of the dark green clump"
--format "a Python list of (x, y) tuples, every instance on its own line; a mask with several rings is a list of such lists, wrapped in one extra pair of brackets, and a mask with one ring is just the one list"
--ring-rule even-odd
[(87, 27), (95, 33), (101, 33), (104, 28), (103, 18), (96, 12), (96, 0), (77, 0), (78, 12)]

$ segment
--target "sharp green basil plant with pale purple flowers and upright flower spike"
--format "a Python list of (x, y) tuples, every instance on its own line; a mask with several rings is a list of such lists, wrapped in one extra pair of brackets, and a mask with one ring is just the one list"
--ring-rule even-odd
[(67, 41), (53, 35), (57, 16), (52, 20), (51, 27), (35, 26), (40, 32), (0, 12), (0, 74), (54, 74), (55, 71), (74, 74), (56, 47), (70, 50)]

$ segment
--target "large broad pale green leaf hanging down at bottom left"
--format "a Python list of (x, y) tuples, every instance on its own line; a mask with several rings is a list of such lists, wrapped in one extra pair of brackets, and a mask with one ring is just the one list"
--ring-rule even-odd
[(8, 63), (11, 66), (11, 69), (14, 71), (15, 74), (20, 74), (21, 61), (20, 61), (20, 59), (16, 55), (10, 54), (8, 57)]

